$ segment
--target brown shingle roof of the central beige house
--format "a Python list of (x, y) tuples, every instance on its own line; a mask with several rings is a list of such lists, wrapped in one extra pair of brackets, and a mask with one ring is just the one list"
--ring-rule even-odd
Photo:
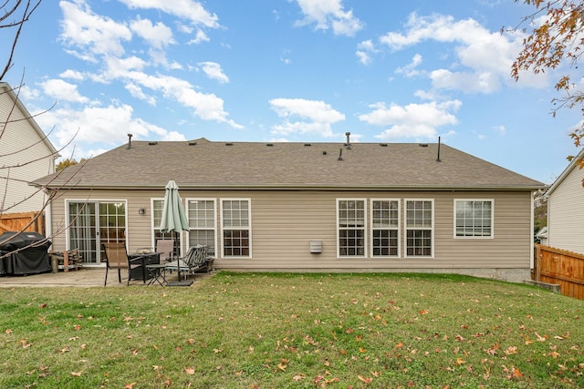
[[(437, 161), (438, 148), (440, 159)], [(342, 160), (339, 160), (341, 156)], [(38, 179), (76, 188), (537, 189), (544, 185), (444, 144), (132, 141)]]

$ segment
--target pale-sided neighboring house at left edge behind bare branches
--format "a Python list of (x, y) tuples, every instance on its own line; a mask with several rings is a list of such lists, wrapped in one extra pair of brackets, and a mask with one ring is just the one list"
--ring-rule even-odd
[(0, 215), (43, 210), (45, 193), (28, 184), (55, 173), (58, 157), (16, 93), (0, 82)]

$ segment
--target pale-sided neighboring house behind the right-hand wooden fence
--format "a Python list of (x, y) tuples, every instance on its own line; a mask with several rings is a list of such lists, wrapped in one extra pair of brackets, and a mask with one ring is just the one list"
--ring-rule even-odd
[(584, 254), (584, 169), (579, 159), (572, 159), (558, 179), (547, 189), (547, 246)]

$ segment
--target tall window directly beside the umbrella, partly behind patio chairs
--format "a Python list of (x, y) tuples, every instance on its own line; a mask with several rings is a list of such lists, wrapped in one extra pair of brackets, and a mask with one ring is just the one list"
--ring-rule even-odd
[(209, 255), (215, 255), (215, 200), (188, 199), (189, 247), (207, 246)]

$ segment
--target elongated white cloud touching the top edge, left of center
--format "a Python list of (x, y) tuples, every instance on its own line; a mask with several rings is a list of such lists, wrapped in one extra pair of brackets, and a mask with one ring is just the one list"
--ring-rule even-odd
[(193, 0), (119, 0), (129, 8), (157, 9), (169, 15), (189, 20), (195, 26), (219, 27), (217, 15), (209, 13), (203, 5)]

